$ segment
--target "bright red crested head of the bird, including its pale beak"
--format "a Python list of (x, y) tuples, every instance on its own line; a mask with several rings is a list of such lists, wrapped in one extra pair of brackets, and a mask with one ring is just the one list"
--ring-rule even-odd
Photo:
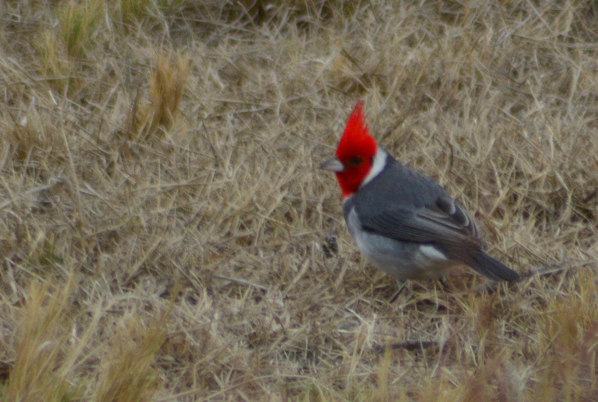
[(365, 124), (363, 104), (358, 100), (349, 115), (343, 136), (338, 142), (336, 157), (320, 165), (321, 169), (336, 173), (343, 198), (358, 190), (359, 185), (370, 172), (377, 151), (376, 141)]

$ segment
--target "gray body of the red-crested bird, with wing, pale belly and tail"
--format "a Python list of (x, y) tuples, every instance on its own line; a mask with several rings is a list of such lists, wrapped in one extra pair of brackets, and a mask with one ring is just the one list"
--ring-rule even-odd
[(384, 168), (343, 206), (349, 232), (367, 260), (401, 282), (443, 278), (459, 264), (493, 280), (519, 279), (483, 251), (475, 220), (444, 188), (383, 155)]

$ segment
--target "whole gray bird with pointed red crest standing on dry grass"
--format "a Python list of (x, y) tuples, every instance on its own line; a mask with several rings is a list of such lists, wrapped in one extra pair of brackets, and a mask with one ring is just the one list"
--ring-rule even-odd
[(463, 265), (492, 281), (518, 281), (486, 254), (478, 224), (440, 184), (377, 144), (363, 109), (358, 100), (335, 156), (319, 168), (336, 174), (345, 222), (365, 259), (393, 276), (399, 293), (405, 281), (442, 281)]

